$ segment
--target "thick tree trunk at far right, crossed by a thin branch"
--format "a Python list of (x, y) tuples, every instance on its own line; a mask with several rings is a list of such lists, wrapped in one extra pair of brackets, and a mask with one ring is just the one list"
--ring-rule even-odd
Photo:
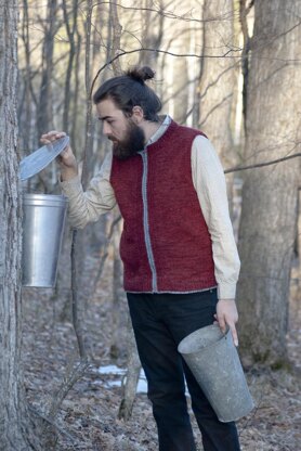
[[(300, 146), (301, 1), (254, 3), (247, 87), (246, 160), (275, 159)], [(239, 230), (240, 349), (246, 364), (286, 359), (290, 269), (300, 164), (291, 159), (245, 176)]]

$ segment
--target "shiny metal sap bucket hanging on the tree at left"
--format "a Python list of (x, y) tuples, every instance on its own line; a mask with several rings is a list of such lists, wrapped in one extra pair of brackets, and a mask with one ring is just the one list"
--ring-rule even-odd
[(54, 287), (64, 233), (67, 197), (23, 196), (23, 286)]

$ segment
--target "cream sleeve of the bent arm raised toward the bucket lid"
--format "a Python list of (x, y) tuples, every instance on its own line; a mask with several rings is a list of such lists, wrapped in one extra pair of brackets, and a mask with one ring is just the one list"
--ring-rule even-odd
[(88, 222), (95, 222), (101, 215), (116, 205), (113, 186), (109, 182), (112, 153), (108, 153), (100, 172), (91, 180), (83, 192), (79, 177), (61, 182), (63, 194), (68, 197), (68, 216), (73, 227), (83, 229)]

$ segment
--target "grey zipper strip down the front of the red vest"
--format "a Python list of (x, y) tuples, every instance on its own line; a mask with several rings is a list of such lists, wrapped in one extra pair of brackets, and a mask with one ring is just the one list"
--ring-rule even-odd
[(152, 271), (152, 291), (153, 293), (158, 292), (157, 286), (157, 271), (155, 266), (155, 259), (154, 254), (152, 249), (152, 243), (150, 243), (150, 235), (149, 235), (149, 224), (148, 224), (148, 205), (147, 205), (147, 153), (146, 151), (140, 152), (140, 155), (142, 156), (142, 163), (143, 163), (143, 175), (142, 175), (142, 202), (143, 202), (143, 228), (144, 228), (144, 240), (145, 240), (145, 246), (146, 246), (146, 253), (148, 258), (148, 263)]

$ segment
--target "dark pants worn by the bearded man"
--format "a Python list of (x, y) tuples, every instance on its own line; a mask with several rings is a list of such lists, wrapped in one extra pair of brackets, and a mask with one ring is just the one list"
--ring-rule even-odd
[[(159, 451), (195, 451), (184, 374), (205, 451), (238, 451), (235, 423), (221, 423), (178, 352), (182, 338), (212, 324), (217, 291), (192, 294), (128, 293), (140, 360), (158, 427)], [(184, 374), (183, 374), (184, 373)]]

